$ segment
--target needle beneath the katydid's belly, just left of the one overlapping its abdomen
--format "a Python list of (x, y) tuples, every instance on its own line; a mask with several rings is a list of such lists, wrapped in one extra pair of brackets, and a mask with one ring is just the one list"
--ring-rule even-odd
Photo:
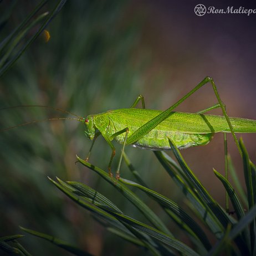
[(160, 163), (162, 164), (162, 166), (165, 168), (165, 170), (171, 176), (172, 180), (176, 183), (176, 185), (178, 187), (180, 187), (181, 191), (183, 192), (183, 194), (185, 194), (188, 201), (191, 202), (190, 206), (193, 206), (192, 209), (193, 210), (196, 209), (196, 211), (198, 213), (198, 217), (200, 217), (202, 219), (202, 221), (208, 225), (208, 227), (211, 229), (213, 234), (216, 235), (217, 238), (221, 238), (224, 228), (222, 227), (222, 225), (218, 221), (218, 219), (197, 198), (197, 196), (194, 194), (193, 190), (191, 190), (191, 188), (185, 184), (185, 182), (177, 174), (177, 172), (175, 171), (175, 169), (169, 162), (169, 159), (166, 157), (166, 154), (161, 151), (157, 151), (154, 153), (155, 153), (156, 157), (158, 158), (158, 160), (160, 161)]

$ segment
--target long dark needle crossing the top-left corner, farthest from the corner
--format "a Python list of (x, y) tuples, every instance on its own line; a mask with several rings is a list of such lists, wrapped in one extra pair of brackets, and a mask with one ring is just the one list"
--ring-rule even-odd
[(16, 62), (16, 60), (21, 57), (21, 55), (25, 52), (25, 50), (29, 47), (30, 44), (34, 42), (34, 40), (42, 33), (44, 28), (52, 21), (52, 19), (58, 14), (58, 12), (62, 9), (64, 6), (66, 0), (59, 0), (57, 5), (54, 7), (53, 11), (50, 12), (49, 16), (43, 24), (40, 26), (40, 28), (37, 30), (37, 32), (33, 35), (32, 38), (30, 38), (23, 47), (18, 51), (17, 54), (14, 55), (13, 58), (11, 58), (3, 67), (0, 69), (0, 77), (9, 69), (11, 66)]

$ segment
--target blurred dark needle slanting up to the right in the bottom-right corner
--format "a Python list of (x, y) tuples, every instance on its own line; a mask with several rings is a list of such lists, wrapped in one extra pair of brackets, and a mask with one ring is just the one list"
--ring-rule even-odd
[[(248, 213), (245, 214), (245, 216), (240, 219), (240, 221), (235, 224), (235, 226), (231, 229), (229, 234), (225, 237), (223, 237), (221, 240), (219, 240), (216, 245), (212, 248), (212, 250), (209, 252), (208, 255), (213, 255), (212, 253), (215, 252), (215, 250), (218, 249), (218, 247), (223, 246), (224, 243), (230, 243), (235, 237), (239, 235), (243, 231), (244, 228), (246, 228), (256, 217), (256, 206), (250, 209)], [(243, 255), (250, 255), (248, 252), (244, 252)], [(254, 255), (254, 254), (252, 254)]]

